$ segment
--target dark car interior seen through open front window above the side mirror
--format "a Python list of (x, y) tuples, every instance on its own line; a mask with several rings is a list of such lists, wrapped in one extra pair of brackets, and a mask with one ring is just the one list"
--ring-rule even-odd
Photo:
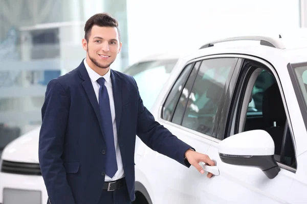
[[(250, 130), (267, 131), (275, 144), (274, 159), (296, 168), (296, 157), (280, 87), (271, 71), (266, 67), (248, 68), (238, 105), (237, 133)], [(248, 77), (249, 76), (249, 77)], [(251, 104), (253, 106), (251, 106)]]

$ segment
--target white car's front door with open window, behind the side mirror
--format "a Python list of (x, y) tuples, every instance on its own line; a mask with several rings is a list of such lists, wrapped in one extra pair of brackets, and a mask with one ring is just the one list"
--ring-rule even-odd
[[(288, 192), (296, 176), (297, 158), (292, 141), (292, 126), (289, 115), (286, 114), (287, 105), (284, 103), (286, 100), (282, 100), (284, 97), (281, 83), (271, 65), (257, 58), (247, 56), (244, 58), (242, 67), (234, 72), (231, 79), (222, 111), (224, 113), (223, 119), (218, 127), (217, 139), (212, 142), (207, 151), (208, 156), (216, 161), (220, 175), (214, 176), (206, 182), (202, 178), (198, 189), (201, 189), (199, 193), (203, 195), (203, 198), (200, 198), (198, 203), (288, 203)], [(267, 75), (267, 80), (263, 81), (261, 74)], [(257, 90), (259, 83), (266, 86), (265, 90)], [(277, 96), (276, 91), (269, 93), (268, 87), (271, 87), (272, 83), (276, 83), (280, 96)], [(258, 95), (254, 97), (255, 94)], [(276, 104), (262, 107), (262, 105), (267, 106), (265, 104), (268, 97), (278, 98), (274, 102)], [(258, 106), (251, 109), (252, 98), (258, 100)], [(284, 111), (284, 114), (277, 115), (274, 112), (276, 106), (281, 107), (278, 109), (278, 113)], [(266, 111), (262, 109), (266, 109)], [(268, 117), (274, 117), (272, 124), (267, 124)], [(280, 120), (280, 117), (284, 118)], [(279, 124), (276, 125), (276, 121)], [(280, 171), (274, 179), (269, 179), (259, 168), (231, 165), (221, 161), (218, 154), (220, 141), (247, 131), (247, 126), (248, 130), (266, 130), (272, 138), (275, 138), (273, 138), (275, 143), (274, 158), (276, 158)], [(275, 137), (276, 134), (278, 137)], [(281, 158), (280, 151), (276, 151), (280, 145), (277, 140), (279, 140), (278, 138), (282, 139), (284, 135), (287, 135), (290, 153)]]

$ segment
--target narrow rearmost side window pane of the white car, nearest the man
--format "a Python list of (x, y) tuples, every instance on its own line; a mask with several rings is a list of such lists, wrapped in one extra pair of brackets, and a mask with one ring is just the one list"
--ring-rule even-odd
[(175, 84), (173, 85), (173, 87), (171, 88), (166, 101), (163, 105), (163, 113), (162, 113), (162, 118), (165, 120), (170, 121), (173, 113), (174, 113), (174, 109), (175, 106), (177, 105), (177, 101), (179, 99), (179, 96), (181, 94), (181, 91), (185, 85), (186, 79), (188, 77), (188, 74), (192, 68), (193, 64), (188, 64), (184, 70), (181, 72), (181, 74), (179, 75), (177, 81), (175, 82)]

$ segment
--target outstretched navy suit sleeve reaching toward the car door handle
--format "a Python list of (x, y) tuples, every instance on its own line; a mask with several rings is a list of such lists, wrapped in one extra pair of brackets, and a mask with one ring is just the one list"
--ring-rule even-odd
[(157, 122), (144, 107), (140, 93), (138, 97), (138, 137), (152, 150), (190, 167), (190, 164), (184, 159), (184, 153), (194, 148), (172, 135), (168, 129)]

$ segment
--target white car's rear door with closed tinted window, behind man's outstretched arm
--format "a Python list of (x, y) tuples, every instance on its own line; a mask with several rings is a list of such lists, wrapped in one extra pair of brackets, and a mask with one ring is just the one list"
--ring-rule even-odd
[[(162, 115), (156, 112), (158, 121), (179, 139), (206, 154), (216, 136), (223, 95), (228, 87), (225, 85), (229, 83), (237, 61), (237, 58), (226, 56), (190, 61), (170, 89)], [(190, 67), (188, 78), (182, 80), (181, 76)], [(150, 172), (150, 177), (159, 177), (151, 185), (155, 189), (153, 203), (196, 203), (202, 197), (197, 186), (201, 179), (208, 183), (206, 175), (157, 152), (146, 150), (146, 154), (147, 158), (152, 154), (154, 163), (159, 161)]]

